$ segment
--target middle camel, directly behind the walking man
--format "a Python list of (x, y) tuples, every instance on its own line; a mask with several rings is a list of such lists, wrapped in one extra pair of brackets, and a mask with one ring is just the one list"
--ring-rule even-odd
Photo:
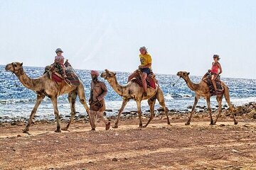
[[(166, 114), (166, 117), (167, 117), (167, 123), (168, 125), (170, 125), (169, 117), (167, 114), (168, 110), (164, 103), (164, 94), (159, 87), (156, 87), (156, 89), (148, 88), (146, 90), (147, 96), (142, 96), (142, 93), (143, 93), (142, 86), (139, 86), (139, 84), (133, 81), (129, 81), (128, 84), (126, 84), (125, 86), (121, 86), (117, 82), (115, 73), (110, 72), (107, 69), (105, 69), (105, 72), (103, 72), (100, 76), (107, 79), (107, 81), (109, 82), (110, 86), (112, 86), (114, 91), (116, 91), (117, 94), (119, 94), (119, 96), (122, 96), (123, 98), (122, 107), (119, 109), (117, 122), (115, 123), (113, 128), (118, 128), (118, 123), (119, 123), (121, 113), (130, 99), (134, 99), (134, 101), (136, 101), (137, 103), (137, 109), (139, 114), (139, 128), (142, 128), (142, 127), (146, 128), (146, 126), (149, 125), (150, 121), (154, 118), (154, 105), (156, 103), (156, 99), (159, 101), (159, 104), (164, 108), (164, 113)], [(146, 100), (146, 99), (148, 99), (151, 115), (146, 125), (142, 126), (141, 102), (142, 100)]]

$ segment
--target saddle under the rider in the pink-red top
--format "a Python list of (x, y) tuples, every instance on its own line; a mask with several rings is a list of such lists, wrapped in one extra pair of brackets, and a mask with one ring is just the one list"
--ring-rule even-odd
[(215, 91), (215, 89), (213, 87), (213, 83), (211, 81), (211, 76), (212, 76), (212, 74), (210, 74), (210, 72), (207, 72), (206, 76), (203, 78), (203, 81), (206, 82), (206, 84), (208, 84), (208, 86), (209, 86), (210, 96), (216, 96), (218, 94), (223, 94), (224, 89), (223, 89), (223, 86), (221, 86), (220, 75), (218, 75), (215, 79), (217, 91)]

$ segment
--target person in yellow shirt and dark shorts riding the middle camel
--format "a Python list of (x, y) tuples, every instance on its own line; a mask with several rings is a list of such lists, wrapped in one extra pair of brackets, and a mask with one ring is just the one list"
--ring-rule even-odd
[[(142, 72), (142, 86), (143, 86), (143, 96), (146, 96), (146, 77), (150, 74), (151, 72), (151, 55), (147, 52), (146, 47), (140, 47), (139, 48), (139, 59), (141, 64), (139, 65), (139, 70)], [(132, 73), (128, 77), (128, 81), (130, 81), (132, 78), (136, 77), (136, 72)]]

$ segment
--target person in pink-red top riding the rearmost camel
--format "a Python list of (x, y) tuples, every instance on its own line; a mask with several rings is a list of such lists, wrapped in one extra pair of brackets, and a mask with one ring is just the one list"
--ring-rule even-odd
[(222, 68), (220, 66), (220, 62), (218, 62), (218, 60), (220, 60), (219, 55), (213, 55), (213, 60), (212, 68), (208, 69), (208, 72), (211, 73), (211, 81), (213, 83), (214, 90), (217, 91), (215, 79), (222, 73)]

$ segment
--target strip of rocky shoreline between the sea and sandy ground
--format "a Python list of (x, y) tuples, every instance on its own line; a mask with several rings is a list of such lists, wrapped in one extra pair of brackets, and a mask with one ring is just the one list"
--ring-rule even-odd
[[(187, 109), (183, 111), (176, 111), (174, 109), (169, 110), (169, 116), (171, 120), (174, 119), (181, 119), (181, 118), (187, 118), (188, 114), (190, 114), (192, 106), (188, 106)], [(250, 118), (250, 119), (256, 119), (256, 102), (250, 102), (242, 106), (234, 106), (234, 114), (235, 116), (239, 116), (241, 118)], [(108, 120), (115, 120), (117, 118), (117, 113), (115, 115), (108, 115), (108, 113), (112, 113), (113, 111), (111, 109), (107, 109), (105, 111), (105, 116)], [(218, 106), (215, 106), (215, 108), (212, 108), (213, 116), (215, 113), (218, 113)], [(137, 118), (137, 111), (128, 111), (123, 112), (121, 115), (121, 120), (129, 120), (132, 118)], [(149, 110), (146, 110), (142, 113), (143, 118), (149, 118), (150, 112)], [(204, 118), (208, 117), (208, 111), (207, 106), (196, 106), (196, 113), (193, 114), (193, 118)], [(220, 117), (230, 117), (231, 113), (228, 109), (228, 106), (223, 106), (223, 111)], [(164, 109), (163, 108), (157, 108), (155, 110), (155, 117), (164, 119), (166, 118), (164, 115)], [(55, 123), (55, 119), (37, 119), (38, 116), (36, 115), (33, 123)], [(70, 119), (70, 115), (60, 115), (60, 121), (63, 123), (68, 123), (68, 120)], [(87, 114), (81, 114), (78, 113), (75, 115), (74, 121), (76, 122), (85, 122), (89, 123), (89, 118)], [(25, 117), (19, 117), (19, 118), (9, 118), (8, 116), (0, 116), (0, 126), (5, 125), (26, 125), (28, 122), (28, 118)]]

